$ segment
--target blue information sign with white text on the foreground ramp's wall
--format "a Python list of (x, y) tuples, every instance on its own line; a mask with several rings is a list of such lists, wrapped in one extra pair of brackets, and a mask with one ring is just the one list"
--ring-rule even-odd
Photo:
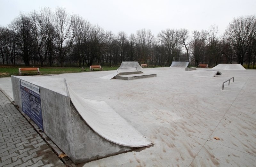
[(44, 131), (39, 87), (20, 80), (22, 111)]

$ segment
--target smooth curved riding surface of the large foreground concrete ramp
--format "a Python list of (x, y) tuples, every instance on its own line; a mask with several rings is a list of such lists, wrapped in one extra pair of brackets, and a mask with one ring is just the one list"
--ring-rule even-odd
[(85, 122), (101, 137), (128, 147), (144, 147), (151, 143), (106, 102), (88, 100), (77, 95), (67, 84), (71, 102)]

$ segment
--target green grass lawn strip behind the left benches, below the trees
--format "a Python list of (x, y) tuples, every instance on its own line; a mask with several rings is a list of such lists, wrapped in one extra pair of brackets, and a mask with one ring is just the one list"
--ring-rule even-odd
[[(103, 71), (116, 70), (118, 67), (101, 66)], [(19, 68), (25, 68), (24, 66), (8, 66), (0, 65), (0, 77), (10, 77), (11, 75), (19, 75)], [(85, 69), (85, 70), (84, 70)], [(74, 72), (89, 72), (89, 67), (39, 67), (41, 75), (46, 74), (61, 74), (61, 73), (74, 73)], [(97, 70), (95, 70), (97, 71)], [(23, 73), (22, 75), (37, 75), (35, 72)]]

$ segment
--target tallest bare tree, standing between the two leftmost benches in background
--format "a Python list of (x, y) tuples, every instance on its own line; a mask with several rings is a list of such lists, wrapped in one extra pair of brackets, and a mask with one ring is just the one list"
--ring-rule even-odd
[(73, 44), (72, 19), (64, 8), (57, 7), (54, 15), (54, 27), (56, 31), (56, 44), (61, 66), (64, 66), (65, 57)]

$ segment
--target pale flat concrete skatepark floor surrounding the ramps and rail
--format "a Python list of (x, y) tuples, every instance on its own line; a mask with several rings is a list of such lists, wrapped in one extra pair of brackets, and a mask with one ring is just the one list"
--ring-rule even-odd
[[(100, 78), (113, 71), (38, 76), (65, 78), (84, 99), (106, 102), (154, 144), (78, 166), (256, 164), (256, 70), (220, 70), (215, 77), (198, 72), (211, 69), (144, 70), (157, 77)], [(222, 91), (222, 82), (231, 77), (234, 83), (225, 83)], [(0, 87), (13, 99), (10, 78), (0, 78)]]

